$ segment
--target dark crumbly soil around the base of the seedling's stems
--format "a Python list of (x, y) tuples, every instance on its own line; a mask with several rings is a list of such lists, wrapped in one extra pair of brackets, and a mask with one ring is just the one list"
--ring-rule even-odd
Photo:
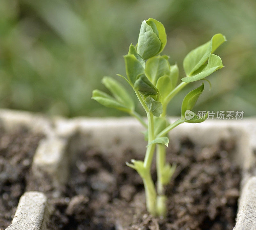
[[(145, 210), (142, 180), (125, 161), (138, 157), (104, 156), (92, 149), (78, 154), (66, 192), (52, 199), (53, 230), (225, 230), (235, 224), (240, 172), (228, 160), (235, 144), (200, 149), (183, 140), (180, 150), (168, 149), (178, 167), (166, 188), (168, 216), (154, 218)], [(156, 172), (153, 171), (156, 179)]]

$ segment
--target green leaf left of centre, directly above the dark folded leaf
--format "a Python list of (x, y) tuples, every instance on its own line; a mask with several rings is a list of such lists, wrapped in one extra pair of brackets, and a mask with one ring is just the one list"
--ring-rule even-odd
[(125, 55), (124, 62), (127, 78), (133, 85), (137, 76), (144, 73), (144, 68), (133, 54)]

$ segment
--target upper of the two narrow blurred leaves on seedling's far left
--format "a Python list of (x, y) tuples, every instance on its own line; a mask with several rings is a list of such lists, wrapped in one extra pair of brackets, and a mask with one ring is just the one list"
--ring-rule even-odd
[(124, 89), (124, 87), (112, 77), (103, 77), (102, 83), (108, 88), (118, 102), (126, 107), (134, 110), (134, 102), (130, 94)]

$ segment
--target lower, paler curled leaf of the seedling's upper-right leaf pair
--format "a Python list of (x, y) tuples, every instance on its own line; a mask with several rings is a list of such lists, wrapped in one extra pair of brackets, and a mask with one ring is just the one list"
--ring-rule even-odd
[(215, 54), (210, 54), (207, 64), (202, 65), (198, 70), (194, 72), (195, 74), (191, 77), (183, 77), (181, 80), (183, 82), (195, 82), (202, 80), (212, 74), (214, 71), (221, 69), (222, 67), (224, 66), (222, 65), (220, 57)]

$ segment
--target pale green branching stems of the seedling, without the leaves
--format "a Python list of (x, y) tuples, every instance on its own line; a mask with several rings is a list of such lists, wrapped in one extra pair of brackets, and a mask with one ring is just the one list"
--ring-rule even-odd
[[(171, 100), (172, 97), (174, 97), (177, 92), (179, 92), (187, 83), (180, 83), (169, 95), (168, 100)], [(153, 114), (148, 111), (148, 107), (146, 106), (144, 100), (142, 99), (139, 91), (135, 90), (135, 93), (140, 100), (140, 103), (142, 107), (147, 112), (148, 117), (148, 126), (146, 123), (143, 123), (142, 118), (140, 115), (138, 115), (136, 112), (134, 112), (132, 115), (135, 116), (145, 127), (148, 127), (148, 144), (155, 139), (155, 133), (154, 133), (154, 117)], [(168, 100), (165, 100), (164, 103), (164, 111), (162, 116), (165, 116), (166, 113), (166, 105), (168, 104)], [(179, 119), (178, 121), (174, 122), (173, 124), (169, 125), (167, 128), (165, 128), (162, 132), (160, 132), (157, 137), (162, 137), (165, 134), (167, 134), (170, 130), (172, 130), (174, 127), (176, 127), (178, 124), (183, 123), (184, 121)], [(154, 182), (152, 180), (151, 174), (150, 174), (150, 168), (154, 156), (156, 144), (149, 145), (146, 150), (145, 158), (144, 158), (144, 168), (145, 168), (145, 174), (143, 176), (143, 184), (145, 187), (145, 195), (146, 195), (146, 206), (149, 213), (152, 215), (159, 215), (161, 217), (164, 217), (166, 214), (166, 196), (164, 194), (164, 184), (162, 181), (162, 174), (163, 169), (165, 166), (165, 155), (166, 155), (166, 149), (164, 145), (157, 145), (157, 155), (156, 155), (156, 167), (157, 167), (157, 194), (156, 194), (156, 188), (154, 185)]]

